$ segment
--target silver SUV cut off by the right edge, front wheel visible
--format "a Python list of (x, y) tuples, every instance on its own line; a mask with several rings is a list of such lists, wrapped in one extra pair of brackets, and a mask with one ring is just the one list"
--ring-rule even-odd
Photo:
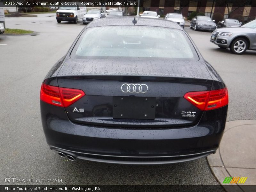
[(222, 49), (229, 48), (234, 54), (243, 54), (246, 50), (256, 50), (256, 20), (240, 27), (218, 28), (213, 31), (211, 42)]

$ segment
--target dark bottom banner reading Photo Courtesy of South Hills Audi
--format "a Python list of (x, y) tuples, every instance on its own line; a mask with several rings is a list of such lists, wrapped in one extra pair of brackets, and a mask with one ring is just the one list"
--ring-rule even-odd
[[(225, 189), (224, 189), (224, 188)], [(249, 185), (227, 185), (227, 186), (218, 186), (218, 185), (2, 185), (0, 186), (1, 192), (84, 192), (84, 191), (98, 191), (98, 192), (149, 192), (149, 191), (159, 191), (159, 192), (170, 192), (170, 191), (189, 191), (189, 192), (219, 192), (219, 191), (245, 191), (245, 192), (255, 192), (256, 186)]]

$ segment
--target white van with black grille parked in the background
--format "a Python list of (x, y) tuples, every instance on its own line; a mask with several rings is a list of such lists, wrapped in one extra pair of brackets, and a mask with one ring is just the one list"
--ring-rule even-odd
[(86, 13), (86, 7), (60, 7), (56, 11), (56, 20), (58, 23), (61, 21), (73, 21), (77, 23), (79, 19), (82, 19)]

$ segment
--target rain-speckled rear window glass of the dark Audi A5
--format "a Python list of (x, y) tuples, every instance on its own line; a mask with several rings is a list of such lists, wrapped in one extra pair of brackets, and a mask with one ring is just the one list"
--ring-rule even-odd
[(136, 25), (87, 28), (71, 54), (78, 58), (195, 59), (197, 57), (191, 42), (183, 31)]

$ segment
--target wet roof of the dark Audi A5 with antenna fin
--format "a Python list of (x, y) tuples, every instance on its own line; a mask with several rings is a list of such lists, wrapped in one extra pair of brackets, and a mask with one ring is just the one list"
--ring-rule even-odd
[[(143, 17), (135, 17), (137, 23), (135, 25), (139, 26), (153, 26), (153, 27), (165, 27), (165, 28), (174, 28), (180, 29), (180, 26), (173, 21), (162, 20), (162, 19), (151, 19), (151, 18), (143, 18)], [(94, 20), (90, 23), (86, 28), (91, 27), (100, 27), (100, 26), (114, 26), (114, 25), (134, 25), (132, 20), (134, 17), (124, 17), (124, 18), (103, 18), (99, 20)]]

